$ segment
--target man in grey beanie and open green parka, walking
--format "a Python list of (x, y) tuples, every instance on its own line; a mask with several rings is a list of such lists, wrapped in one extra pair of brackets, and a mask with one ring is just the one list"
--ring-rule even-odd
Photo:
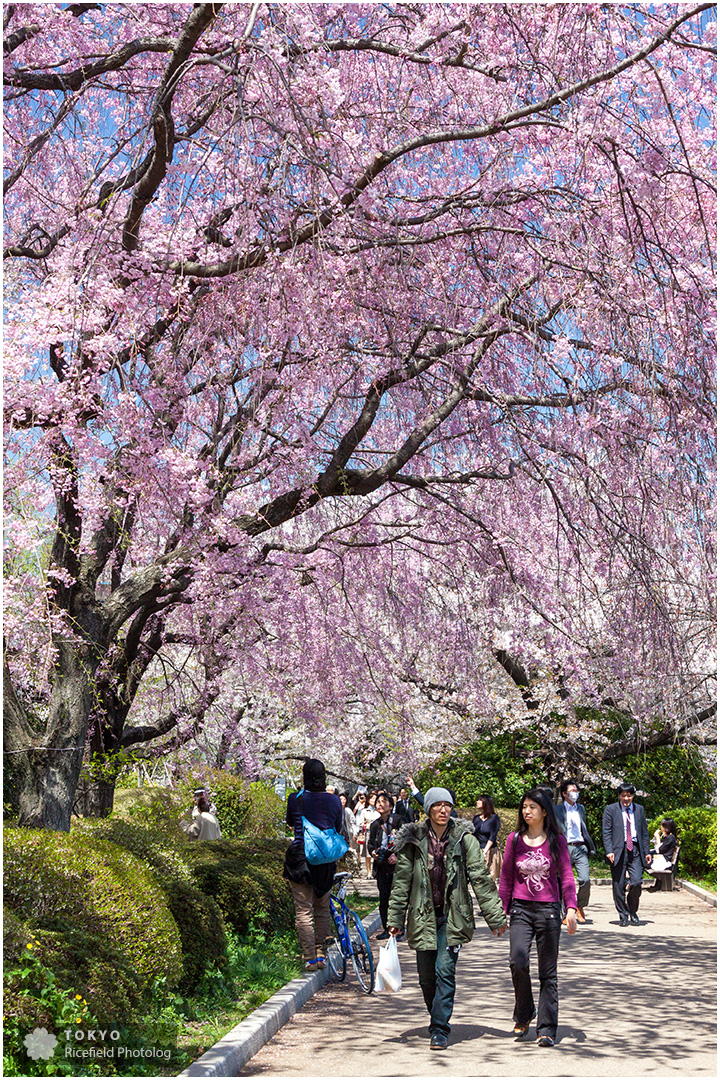
[(450, 818), (453, 799), (444, 787), (425, 795), (427, 819), (404, 825), (395, 837), (395, 876), (388, 913), (392, 936), (403, 932), (416, 950), (418, 977), (430, 1013), (430, 1045), (445, 1050), (454, 1003), (460, 946), (475, 930), (468, 885), (498, 937), (507, 920), (468, 822)]

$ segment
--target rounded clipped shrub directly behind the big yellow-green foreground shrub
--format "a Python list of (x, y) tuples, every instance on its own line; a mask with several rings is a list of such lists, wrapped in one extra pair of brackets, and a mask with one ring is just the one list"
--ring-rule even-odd
[[(150, 791), (150, 788), (139, 788)], [(154, 791), (154, 789), (153, 789)], [(162, 789), (161, 789), (162, 791)], [(219, 906), (207, 896), (192, 879), (189, 841), (177, 824), (175, 810), (171, 819), (165, 813), (166, 804), (161, 798), (155, 811), (152, 801), (140, 804), (149, 812), (133, 814), (128, 805), (128, 819), (105, 818), (86, 820), (78, 825), (89, 836), (103, 836), (125, 851), (141, 859), (163, 890), (167, 905), (177, 923), (182, 949), (182, 980), (180, 987), (189, 989), (203, 972), (222, 968), (227, 962), (228, 944)], [(168, 821), (172, 823), (168, 824)]]

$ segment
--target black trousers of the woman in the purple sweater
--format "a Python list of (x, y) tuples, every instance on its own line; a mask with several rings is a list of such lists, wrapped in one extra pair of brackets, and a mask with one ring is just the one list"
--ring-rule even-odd
[(557, 954), (560, 944), (560, 904), (514, 900), (510, 910), (510, 970), (515, 987), (516, 1024), (529, 1024), (534, 1013), (530, 983), (530, 945), (538, 948), (538, 1035), (557, 1034), (558, 989)]

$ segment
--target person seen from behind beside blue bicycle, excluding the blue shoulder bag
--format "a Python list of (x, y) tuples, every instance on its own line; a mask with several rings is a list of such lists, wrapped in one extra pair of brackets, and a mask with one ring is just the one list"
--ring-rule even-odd
[(303, 789), (287, 799), (285, 821), (294, 839), (285, 853), (283, 877), (287, 879), (295, 902), (295, 929), (309, 971), (325, 967), (325, 941), (330, 935), (330, 889), (337, 863), (310, 866), (302, 841), (303, 816), (318, 828), (342, 833), (342, 802), (325, 791), (325, 766), (308, 758), (302, 767)]

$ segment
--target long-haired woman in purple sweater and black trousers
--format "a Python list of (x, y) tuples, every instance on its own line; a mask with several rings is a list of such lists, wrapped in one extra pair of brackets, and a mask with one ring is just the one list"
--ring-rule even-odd
[(515, 987), (515, 1035), (527, 1035), (535, 1015), (530, 985), (530, 945), (535, 939), (540, 1000), (538, 1045), (552, 1047), (557, 1034), (557, 951), (561, 904), (568, 933), (576, 928), (578, 900), (568, 841), (558, 832), (547, 794), (533, 787), (520, 802), (517, 832), (507, 837), (500, 874), (500, 899), (510, 915), (510, 968)]

